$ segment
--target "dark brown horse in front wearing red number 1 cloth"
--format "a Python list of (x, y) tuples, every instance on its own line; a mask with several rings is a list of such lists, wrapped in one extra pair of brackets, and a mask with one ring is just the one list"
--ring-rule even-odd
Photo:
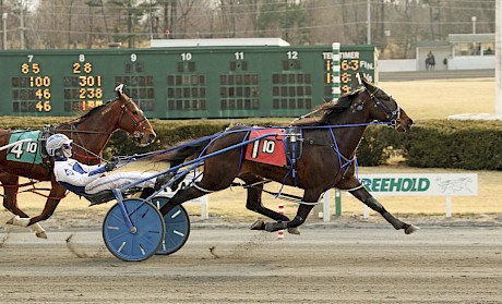
[[(224, 190), (232, 184), (235, 178), (238, 178), (244, 181), (244, 187), (248, 187), (246, 207), (276, 221), (265, 223), (263, 220), (258, 220), (251, 229), (266, 231), (288, 229), (290, 233), (298, 233), (297, 227), (306, 221), (322, 193), (337, 187), (350, 192), (381, 214), (396, 230), (403, 229), (406, 234), (413, 233), (418, 228), (398, 220), (385, 210), (355, 174), (356, 150), (367, 125), (378, 121), (392, 125), (398, 132), (405, 132), (410, 129), (413, 120), (384, 90), (363, 77), (361, 84), (362, 88), (343, 96), (337, 102), (322, 105), (319, 111), (323, 114), (320, 118), (298, 121), (294, 124), (302, 133), (301, 142), (298, 139), (302, 153), (296, 165), (290, 162), (288, 166), (277, 167), (251, 161), (242, 157), (244, 151), (241, 147), (228, 148), (249, 141), (249, 127), (243, 126), (227, 130), (207, 139), (181, 145), (175, 153), (163, 156), (164, 159), (171, 161), (172, 167), (179, 167), (186, 158), (202, 151), (199, 158), (204, 159), (204, 169), (202, 180), (179, 191), (160, 209), (160, 212), (166, 215), (176, 205)], [(218, 154), (222, 150), (223, 153)], [(213, 156), (207, 157), (210, 154)], [(304, 190), (302, 203), (292, 220), (262, 205), (263, 181), (270, 180)]]

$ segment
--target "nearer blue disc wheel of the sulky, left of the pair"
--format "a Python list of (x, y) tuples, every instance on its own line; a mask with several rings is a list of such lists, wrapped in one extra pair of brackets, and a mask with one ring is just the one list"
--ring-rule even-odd
[(154, 255), (164, 241), (165, 224), (157, 207), (151, 203), (130, 198), (123, 200), (133, 229), (129, 229), (119, 204), (103, 222), (103, 239), (108, 250), (122, 260), (144, 260)]

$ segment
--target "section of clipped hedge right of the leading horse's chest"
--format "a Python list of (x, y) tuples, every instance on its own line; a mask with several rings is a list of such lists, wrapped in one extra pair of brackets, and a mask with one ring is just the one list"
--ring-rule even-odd
[(369, 127), (358, 150), (362, 166), (378, 166), (396, 156), (417, 168), (502, 170), (502, 122), (432, 120), (410, 132)]

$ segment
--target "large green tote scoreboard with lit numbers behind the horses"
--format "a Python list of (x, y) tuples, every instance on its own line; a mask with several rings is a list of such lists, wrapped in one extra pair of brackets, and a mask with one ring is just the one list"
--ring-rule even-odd
[[(297, 117), (332, 97), (331, 46), (0, 51), (1, 115), (74, 115), (125, 93), (148, 118)], [(373, 46), (340, 47), (342, 93), (376, 81)]]

